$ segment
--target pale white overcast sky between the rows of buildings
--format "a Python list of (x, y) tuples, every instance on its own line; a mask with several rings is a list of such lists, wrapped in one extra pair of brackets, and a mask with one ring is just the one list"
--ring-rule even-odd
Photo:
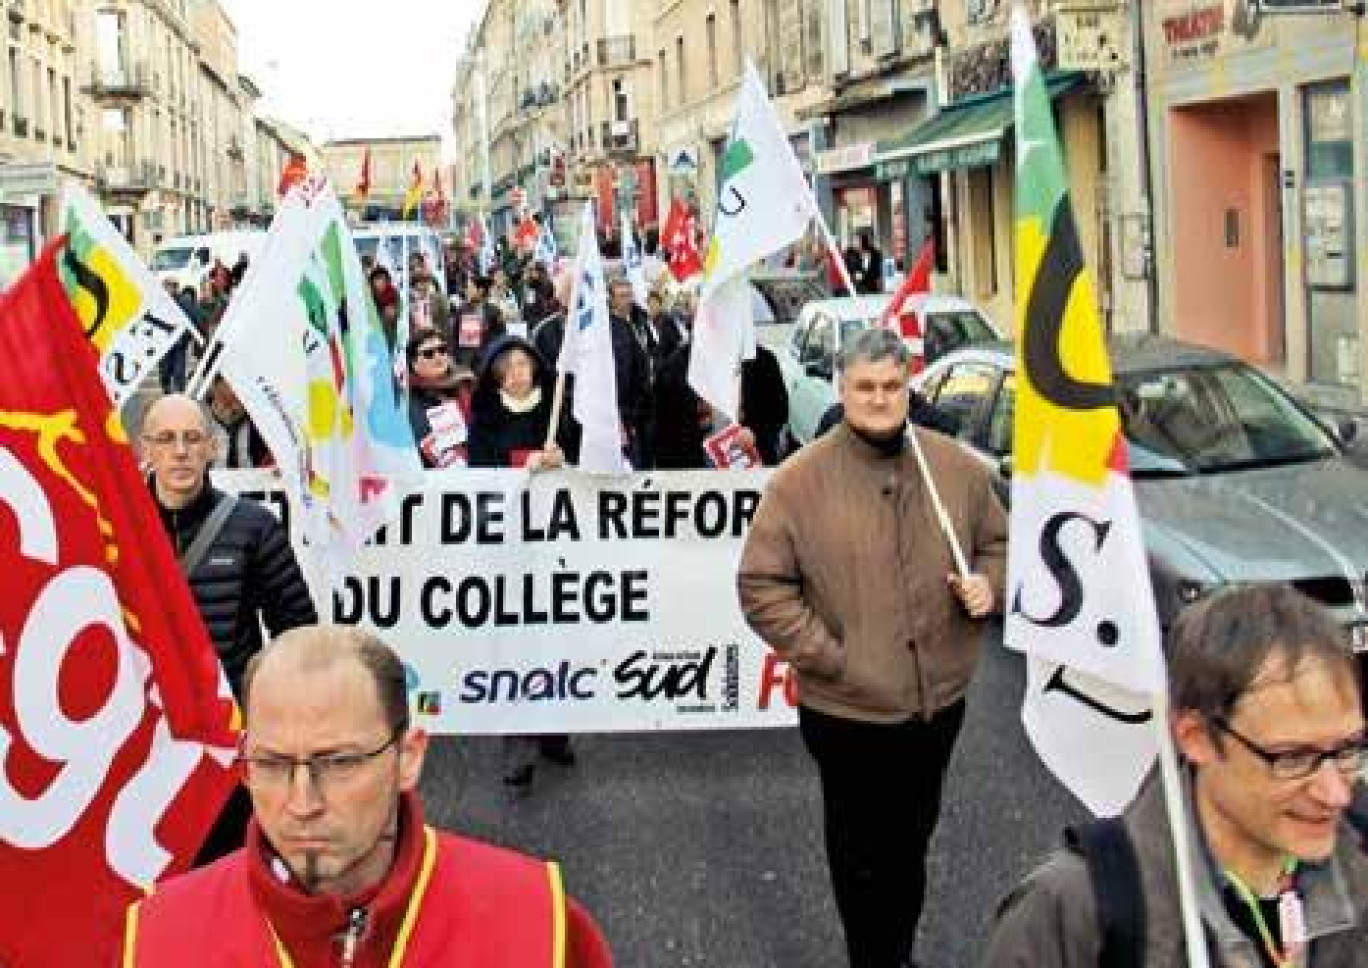
[(219, 0), (260, 109), (315, 141), (450, 138), (451, 74), (486, 0)]

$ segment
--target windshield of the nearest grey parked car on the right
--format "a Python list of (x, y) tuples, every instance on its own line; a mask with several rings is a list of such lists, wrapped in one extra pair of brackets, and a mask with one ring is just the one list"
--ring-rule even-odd
[(1207, 474), (1334, 457), (1334, 442), (1272, 380), (1231, 362), (1118, 379), (1130, 469)]

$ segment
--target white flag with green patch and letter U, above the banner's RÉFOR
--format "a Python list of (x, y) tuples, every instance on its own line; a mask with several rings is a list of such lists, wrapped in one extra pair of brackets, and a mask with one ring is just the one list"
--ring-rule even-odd
[(740, 410), (741, 361), (755, 354), (746, 271), (800, 239), (814, 216), (817, 206), (803, 170), (755, 66), (747, 60), (736, 122), (722, 154), (722, 183), (688, 361), (689, 386), (732, 420)]

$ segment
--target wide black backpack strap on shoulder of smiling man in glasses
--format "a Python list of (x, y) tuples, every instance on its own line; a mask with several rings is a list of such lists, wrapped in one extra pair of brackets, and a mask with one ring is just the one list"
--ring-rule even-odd
[(1103, 950), (1099, 968), (1145, 964), (1145, 896), (1135, 845), (1118, 816), (1064, 830), (1068, 849), (1088, 864)]

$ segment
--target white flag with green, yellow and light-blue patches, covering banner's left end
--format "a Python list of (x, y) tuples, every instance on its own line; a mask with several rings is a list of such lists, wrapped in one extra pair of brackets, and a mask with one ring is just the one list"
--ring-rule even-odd
[(290, 193), (219, 327), (220, 372), (275, 454), (330, 582), (421, 473), (389, 345), (331, 185)]

